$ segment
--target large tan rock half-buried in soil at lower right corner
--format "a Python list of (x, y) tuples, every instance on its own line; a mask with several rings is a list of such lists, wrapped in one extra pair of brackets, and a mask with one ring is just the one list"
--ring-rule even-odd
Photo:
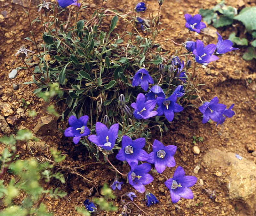
[(238, 159), (233, 152), (211, 149), (204, 155), (203, 166), (212, 167), (221, 173), (229, 191), (229, 198), (241, 210), (241, 215), (256, 212), (256, 165), (246, 158)]

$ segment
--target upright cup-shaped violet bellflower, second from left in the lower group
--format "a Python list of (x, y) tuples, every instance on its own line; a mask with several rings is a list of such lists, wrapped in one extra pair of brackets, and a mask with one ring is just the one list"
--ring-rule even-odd
[(88, 136), (88, 140), (105, 150), (111, 150), (115, 143), (118, 133), (118, 124), (112, 125), (109, 129), (106, 125), (96, 122), (97, 135)]

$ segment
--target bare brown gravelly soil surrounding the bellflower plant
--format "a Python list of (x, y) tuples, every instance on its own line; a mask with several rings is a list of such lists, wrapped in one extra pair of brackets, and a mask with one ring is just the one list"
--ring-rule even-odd
[[(10, 3), (12, 1), (0, 0), (0, 13), (6, 10), (8, 17), (3, 19), (0, 23), (0, 38), (1, 38), (1, 64), (0, 64), (0, 102), (8, 102), (12, 109), (16, 111), (18, 108), (24, 108), (22, 98), (30, 102), (26, 109), (26, 117), (21, 119), (15, 126), (12, 127), (12, 133), (17, 129), (26, 127), (33, 129), (39, 117), (45, 113), (45, 104), (39, 100), (37, 96), (33, 95), (35, 85), (24, 85), (24, 82), (31, 81), (31, 74), (28, 70), (19, 70), (15, 79), (10, 80), (8, 73), (16, 67), (23, 66), (18, 58), (14, 57), (14, 50), (18, 50), (20, 45), (27, 44), (31, 50), (35, 50), (31, 43), (24, 40), (25, 37), (30, 37), (30, 29), (28, 27), (28, 20), (22, 7), (18, 4)], [(236, 5), (241, 1), (232, 1), (228, 3), (231, 6)], [(253, 6), (254, 1), (247, 0), (247, 6)], [(91, 14), (100, 5), (100, 1), (89, 1), (89, 7), (85, 13)], [(157, 13), (158, 4), (156, 0), (146, 2), (149, 4), (149, 10)], [(136, 1), (125, 2), (119, 4), (116, 0), (109, 0), (104, 2), (104, 8), (115, 9), (121, 12), (128, 12), (136, 5)], [(184, 14), (196, 14), (199, 8), (211, 8), (216, 4), (211, 0), (200, 1), (167, 1), (165, 0), (162, 8), (162, 27), (166, 28), (161, 33), (158, 40), (166, 38), (173, 39), (176, 42), (183, 42), (186, 39), (187, 31), (185, 30)], [(27, 9), (27, 8), (25, 8)], [(33, 18), (36, 17), (37, 9), (32, 10)], [(147, 16), (147, 13), (142, 14), (142, 17)], [(40, 38), (42, 29), (37, 27), (38, 24), (33, 25), (34, 33), (37, 38)], [(120, 24), (118, 24), (120, 25)], [(118, 26), (121, 27), (121, 26)], [(240, 26), (241, 27), (241, 26)], [(221, 32), (224, 38), (233, 31), (233, 27), (228, 27), (224, 32)], [(220, 30), (219, 30), (220, 32)], [(143, 33), (142, 33), (143, 34)], [(212, 35), (212, 36), (211, 36)], [(213, 30), (213, 34), (202, 33), (200, 35), (191, 34), (191, 39), (204, 40), (206, 44), (216, 43), (217, 36)], [(28, 48), (27, 47), (27, 48)], [(175, 53), (174, 44), (170, 41), (164, 43), (164, 49), (170, 51), (170, 54)], [(177, 204), (172, 204), (170, 199), (169, 190), (164, 185), (164, 178), (156, 173), (152, 173), (154, 181), (147, 185), (147, 189), (153, 192), (159, 199), (159, 204), (146, 207), (144, 196), (136, 192), (138, 196), (135, 198), (135, 203), (138, 204), (148, 215), (243, 215), (243, 209), (236, 209), (236, 203), (228, 200), (228, 190), (223, 182), (215, 175), (216, 170), (201, 168), (198, 174), (193, 173), (193, 169), (199, 163), (200, 159), (204, 156), (204, 152), (211, 148), (218, 148), (221, 150), (232, 151), (242, 157), (254, 160), (250, 153), (256, 150), (256, 128), (255, 128), (255, 90), (256, 90), (256, 73), (255, 61), (246, 62), (242, 59), (244, 50), (232, 51), (225, 54), (218, 61), (213, 62), (203, 69), (201, 66), (198, 73), (201, 74), (201, 83), (205, 86), (201, 87), (201, 95), (203, 100), (212, 99), (218, 96), (221, 103), (227, 104), (229, 107), (232, 103), (235, 104), (234, 111), (236, 115), (227, 119), (221, 126), (215, 127), (214, 123), (201, 123), (201, 113), (195, 109), (188, 107), (182, 112), (179, 120), (174, 120), (169, 125), (169, 132), (164, 134), (161, 139), (158, 131), (153, 131), (156, 139), (161, 140), (164, 144), (177, 145), (178, 150), (175, 154), (176, 164), (182, 166), (187, 175), (195, 175), (198, 180), (202, 179), (204, 185), (196, 183), (191, 189), (194, 192), (193, 200), (181, 199)], [(250, 82), (248, 81), (250, 80)], [(19, 84), (18, 90), (12, 88), (12, 83)], [(54, 102), (54, 101), (53, 101)], [(201, 105), (199, 100), (195, 104)], [(35, 110), (37, 117), (32, 118), (28, 115), (28, 110)], [(59, 110), (61, 111), (61, 110)], [(188, 120), (189, 119), (189, 120)], [(65, 126), (66, 125), (66, 126)], [(66, 122), (58, 121), (58, 127), (65, 129)], [(1, 136), (1, 133), (0, 133)], [(204, 141), (197, 142), (196, 145), (200, 148), (200, 154), (196, 155), (192, 152), (193, 138), (192, 136), (202, 136)], [(92, 195), (89, 196), (89, 190), (96, 185), (100, 189), (106, 182), (111, 184), (115, 178), (115, 173), (109, 170), (105, 165), (95, 163), (96, 160), (89, 155), (86, 148), (79, 143), (74, 145), (71, 139), (63, 136), (63, 134), (56, 128), (51, 135), (39, 137), (47, 144), (47, 148), (58, 148), (62, 153), (66, 154), (66, 160), (62, 162), (63, 167), (80, 167), (79, 173), (85, 178), (95, 182), (90, 183), (77, 174), (66, 172), (66, 184), (59, 185), (61, 189), (68, 193), (68, 196), (63, 199), (54, 200), (45, 198), (44, 203), (47, 205), (49, 211), (55, 212), (55, 215), (78, 215), (75, 211), (75, 206), (82, 206), (85, 199), (92, 199), (93, 196), (99, 196), (94, 189)], [(1, 147), (2, 148), (2, 147)], [(29, 149), (26, 146), (21, 148), (19, 152), (22, 159), (32, 157)], [(49, 157), (46, 150), (38, 150), (34, 152), (36, 157)], [(114, 157), (112, 158), (114, 159)], [(111, 160), (111, 157), (110, 157)], [(128, 172), (128, 167), (123, 166), (122, 163), (117, 163), (117, 167), (124, 173)], [(172, 177), (176, 167), (166, 169), (164, 175), (169, 178)], [(5, 176), (8, 178), (8, 176)], [(125, 181), (125, 180), (124, 180)], [(47, 187), (47, 185), (45, 185)], [(54, 187), (54, 182), (51, 183)], [(125, 192), (134, 191), (129, 185), (124, 183), (122, 190), (115, 190), (116, 200), (114, 204), (118, 206), (118, 212), (103, 213), (104, 215), (118, 215), (122, 211), (121, 195)], [(205, 189), (215, 190), (216, 198), (211, 199)], [(19, 202), (19, 201), (17, 201)], [(136, 207), (132, 209), (132, 215), (143, 213)]]

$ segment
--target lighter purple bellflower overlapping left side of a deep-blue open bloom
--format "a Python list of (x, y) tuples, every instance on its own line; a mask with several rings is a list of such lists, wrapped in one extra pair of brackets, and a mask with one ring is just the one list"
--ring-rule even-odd
[(134, 108), (133, 115), (136, 119), (148, 119), (157, 114), (153, 109), (156, 106), (155, 100), (146, 101), (145, 95), (140, 93), (137, 96), (136, 103), (132, 103), (131, 107)]

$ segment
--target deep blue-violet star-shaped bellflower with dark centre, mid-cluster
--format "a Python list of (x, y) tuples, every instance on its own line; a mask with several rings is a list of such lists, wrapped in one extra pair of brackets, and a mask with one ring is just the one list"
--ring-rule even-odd
[(176, 103), (177, 96), (176, 94), (172, 94), (168, 98), (157, 97), (156, 103), (158, 108), (156, 110), (157, 115), (161, 116), (164, 114), (165, 118), (168, 121), (172, 121), (174, 118), (174, 112), (181, 112), (183, 107)]

